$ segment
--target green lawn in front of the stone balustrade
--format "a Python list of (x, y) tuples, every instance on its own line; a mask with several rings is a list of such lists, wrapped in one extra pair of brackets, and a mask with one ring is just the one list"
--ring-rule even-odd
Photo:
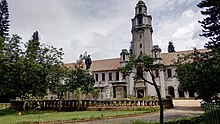
[(2, 124), (22, 124), (30, 122), (51, 122), (86, 119), (89, 120), (142, 113), (146, 113), (146, 111), (26, 111), (22, 112), (21, 115), (18, 115), (18, 112), (15, 110), (1, 109), (0, 122)]

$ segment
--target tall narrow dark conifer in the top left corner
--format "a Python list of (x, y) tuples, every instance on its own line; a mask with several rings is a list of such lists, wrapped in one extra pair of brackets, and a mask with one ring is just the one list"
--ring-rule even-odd
[(6, 37), (9, 35), (9, 11), (8, 2), (6, 0), (0, 1), (0, 36)]

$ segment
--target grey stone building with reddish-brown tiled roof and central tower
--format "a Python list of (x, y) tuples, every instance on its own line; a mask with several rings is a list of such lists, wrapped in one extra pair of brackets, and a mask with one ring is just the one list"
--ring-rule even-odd
[[(134, 74), (124, 76), (118, 72), (118, 68), (124, 66), (129, 61), (129, 55), (132, 53), (136, 56), (145, 54), (157, 58), (157, 62), (164, 65), (163, 69), (155, 70), (156, 82), (160, 88), (161, 96), (171, 95), (174, 98), (193, 97), (194, 93), (185, 93), (179, 91), (179, 81), (176, 78), (175, 59), (178, 54), (191, 53), (189, 51), (179, 51), (171, 53), (161, 53), (158, 45), (153, 45), (152, 41), (152, 17), (147, 13), (147, 6), (139, 0), (135, 7), (135, 15), (132, 21), (132, 41), (130, 50), (122, 49), (120, 58), (105, 60), (95, 60), (92, 62), (90, 71), (94, 75), (94, 87), (100, 88), (100, 99), (126, 98), (134, 96), (143, 98), (146, 96), (156, 96), (155, 88), (145, 83), (143, 80), (135, 81)], [(66, 66), (71, 66), (66, 64)], [(134, 69), (134, 72), (138, 69)], [(144, 77), (151, 80), (148, 73), (143, 73)]]

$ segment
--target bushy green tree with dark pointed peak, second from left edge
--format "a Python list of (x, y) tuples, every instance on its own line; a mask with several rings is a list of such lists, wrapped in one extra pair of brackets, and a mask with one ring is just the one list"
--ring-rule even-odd
[(56, 73), (62, 73), (57, 72), (62, 71), (57, 69), (63, 63), (62, 49), (40, 44), (39, 34), (36, 31), (26, 45), (25, 55), (25, 64), (27, 67), (26, 73), (24, 73), (24, 82), (26, 82), (24, 86), (27, 86), (25, 87), (26, 92), (33, 96), (44, 96), (47, 94), (49, 83), (53, 81), (51, 77), (54, 76), (54, 71)]

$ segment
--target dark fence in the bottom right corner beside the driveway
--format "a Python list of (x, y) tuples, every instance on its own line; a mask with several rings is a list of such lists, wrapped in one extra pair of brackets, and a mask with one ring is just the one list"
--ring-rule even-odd
[(208, 124), (220, 124), (220, 101), (204, 103), (205, 120)]

